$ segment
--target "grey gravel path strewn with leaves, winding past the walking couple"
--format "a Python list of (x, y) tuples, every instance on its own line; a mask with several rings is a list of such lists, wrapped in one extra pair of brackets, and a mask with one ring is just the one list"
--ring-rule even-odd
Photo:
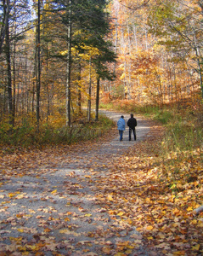
[[(115, 120), (123, 114), (102, 113)], [(117, 134), (110, 142), (71, 151), (36, 175), (2, 183), (1, 255), (149, 255), (136, 228), (121, 216), (112, 218), (98, 202), (98, 177), (108, 178), (121, 154), (148, 136), (149, 122), (136, 118), (136, 142), (128, 141), (127, 129), (123, 142)]]

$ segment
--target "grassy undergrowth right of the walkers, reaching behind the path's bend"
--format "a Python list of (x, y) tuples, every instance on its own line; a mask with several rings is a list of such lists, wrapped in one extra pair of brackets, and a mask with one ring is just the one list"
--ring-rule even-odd
[[(109, 108), (112, 103), (108, 105)], [(104, 108), (104, 105), (103, 105)], [(182, 179), (184, 182), (196, 177), (194, 165), (202, 165), (203, 155), (203, 108), (202, 104), (179, 102), (173, 106), (136, 106), (134, 102), (121, 102), (114, 110), (128, 113), (141, 113), (146, 118), (154, 119), (165, 127), (164, 136), (157, 145), (151, 145), (150, 150), (156, 151), (156, 167), (160, 178), (169, 179), (169, 185), (177, 188)], [(183, 179), (182, 174), (187, 177)]]

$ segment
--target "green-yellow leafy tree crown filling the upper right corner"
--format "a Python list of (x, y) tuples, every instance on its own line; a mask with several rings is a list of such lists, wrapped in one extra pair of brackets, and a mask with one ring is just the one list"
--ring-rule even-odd
[(203, 97), (202, 15), (203, 5), (199, 0), (156, 1), (149, 26), (159, 44), (165, 45), (179, 60), (189, 60), (189, 69), (199, 74)]

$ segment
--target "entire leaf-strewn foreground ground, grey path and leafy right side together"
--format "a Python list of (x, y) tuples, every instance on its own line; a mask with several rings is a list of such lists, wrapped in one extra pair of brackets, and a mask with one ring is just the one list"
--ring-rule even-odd
[(202, 255), (202, 152), (163, 160), (164, 130), (147, 125), (136, 143), (115, 129), (2, 154), (0, 255)]

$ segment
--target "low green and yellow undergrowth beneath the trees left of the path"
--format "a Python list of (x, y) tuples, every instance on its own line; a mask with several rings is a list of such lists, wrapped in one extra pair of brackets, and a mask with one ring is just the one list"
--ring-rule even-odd
[(88, 122), (82, 115), (80, 119), (73, 119), (70, 127), (65, 126), (65, 118), (60, 115), (49, 116), (41, 122), (37, 131), (36, 120), (27, 116), (16, 119), (14, 127), (3, 123), (0, 125), (1, 148), (12, 150), (14, 148), (42, 147), (46, 144), (72, 144), (92, 140), (102, 136), (114, 125), (114, 122), (103, 115), (99, 121)]

